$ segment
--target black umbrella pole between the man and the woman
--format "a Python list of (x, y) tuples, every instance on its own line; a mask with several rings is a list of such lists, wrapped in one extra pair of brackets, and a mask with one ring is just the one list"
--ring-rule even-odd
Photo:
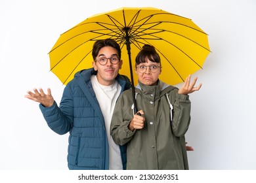
[(131, 42), (129, 41), (128, 36), (128, 30), (125, 30), (126, 33), (126, 48), (127, 48), (127, 54), (129, 58), (129, 66), (130, 66), (130, 75), (131, 75), (131, 90), (133, 92), (133, 105), (134, 105), (134, 113), (136, 114), (138, 112), (137, 103), (135, 99), (135, 86), (133, 82), (133, 69), (132, 69), (132, 63), (131, 63)]

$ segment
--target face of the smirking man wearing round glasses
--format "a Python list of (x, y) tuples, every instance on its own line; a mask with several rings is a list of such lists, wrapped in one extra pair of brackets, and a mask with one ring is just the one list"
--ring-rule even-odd
[(97, 60), (100, 58), (111, 58), (113, 56), (118, 56), (117, 50), (111, 46), (105, 46), (100, 49), (96, 61), (93, 62), (95, 71), (98, 71), (96, 75), (98, 82), (104, 86), (113, 84), (123, 61), (120, 59), (116, 64), (113, 64), (110, 59), (108, 59), (106, 65), (100, 65)]

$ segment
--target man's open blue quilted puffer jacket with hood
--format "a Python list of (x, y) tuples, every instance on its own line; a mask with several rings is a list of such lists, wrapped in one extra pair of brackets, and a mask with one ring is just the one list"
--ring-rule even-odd
[[(97, 170), (108, 169), (108, 139), (104, 117), (96, 99), (91, 75), (96, 71), (85, 69), (75, 74), (62, 95), (60, 107), (54, 101), (51, 107), (39, 105), (47, 124), (62, 135), (70, 132), (68, 139), (68, 168)], [(121, 92), (131, 87), (126, 76), (118, 75)], [(126, 167), (126, 147), (120, 146), (123, 169)]]

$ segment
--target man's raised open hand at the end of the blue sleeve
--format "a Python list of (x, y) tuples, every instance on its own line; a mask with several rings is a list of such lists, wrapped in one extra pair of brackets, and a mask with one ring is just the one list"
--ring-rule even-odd
[(32, 101), (41, 103), (44, 107), (51, 107), (54, 103), (53, 96), (51, 95), (51, 89), (47, 88), (47, 94), (43, 92), (42, 88), (39, 88), (39, 91), (34, 88), (33, 92), (28, 91), (28, 95), (25, 95), (25, 98), (28, 98)]

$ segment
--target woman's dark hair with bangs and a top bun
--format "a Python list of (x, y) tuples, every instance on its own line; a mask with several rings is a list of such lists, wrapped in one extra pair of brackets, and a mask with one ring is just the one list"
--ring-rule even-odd
[(161, 59), (154, 46), (145, 44), (140, 50), (139, 54), (135, 59), (135, 65), (139, 65), (140, 63), (146, 63), (146, 58), (148, 58), (152, 62), (160, 63)]

